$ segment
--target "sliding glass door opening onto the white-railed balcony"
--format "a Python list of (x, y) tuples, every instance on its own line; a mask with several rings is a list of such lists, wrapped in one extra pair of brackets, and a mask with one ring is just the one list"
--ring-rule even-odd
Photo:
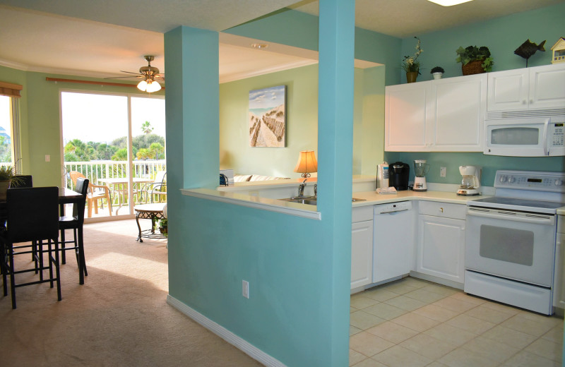
[[(165, 167), (165, 100), (61, 92), (64, 185), (93, 183), (86, 218), (133, 216)], [(165, 195), (166, 198), (166, 195)]]

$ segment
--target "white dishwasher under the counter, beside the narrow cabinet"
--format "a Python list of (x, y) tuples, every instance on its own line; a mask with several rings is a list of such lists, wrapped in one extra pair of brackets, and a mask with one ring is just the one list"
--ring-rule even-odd
[(412, 201), (374, 205), (373, 228), (373, 283), (409, 274), (415, 240)]

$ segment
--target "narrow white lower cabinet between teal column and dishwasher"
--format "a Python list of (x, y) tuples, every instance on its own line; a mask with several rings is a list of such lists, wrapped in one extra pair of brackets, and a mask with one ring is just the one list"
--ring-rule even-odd
[(352, 209), (351, 289), (371, 284), (373, 275), (373, 206)]

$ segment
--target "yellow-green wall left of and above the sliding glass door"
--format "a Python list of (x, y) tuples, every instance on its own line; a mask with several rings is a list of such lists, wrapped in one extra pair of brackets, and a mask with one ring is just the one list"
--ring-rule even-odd
[[(61, 128), (59, 114), (60, 90), (144, 95), (136, 88), (101, 86), (66, 82), (50, 82), (45, 78), (107, 81), (81, 76), (56, 75), (18, 71), (0, 66), (0, 80), (23, 85), (20, 98), (20, 133), (23, 173), (33, 176), (35, 186), (61, 185)], [(162, 95), (164, 92), (157, 92)], [(85, 126), (85, 129), (96, 126)], [(50, 155), (50, 162), (45, 162)]]

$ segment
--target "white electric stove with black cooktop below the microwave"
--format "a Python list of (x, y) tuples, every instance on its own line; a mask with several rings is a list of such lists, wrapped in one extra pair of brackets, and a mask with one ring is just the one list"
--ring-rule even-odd
[(499, 170), (494, 187), (468, 201), (465, 292), (549, 315), (565, 173)]

